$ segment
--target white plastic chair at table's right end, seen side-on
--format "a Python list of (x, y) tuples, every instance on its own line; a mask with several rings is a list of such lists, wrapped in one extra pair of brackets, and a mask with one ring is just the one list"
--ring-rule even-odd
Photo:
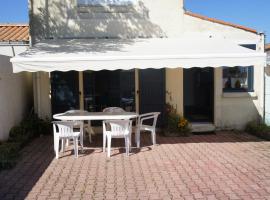
[[(141, 131), (151, 132), (152, 143), (153, 145), (156, 144), (156, 124), (159, 114), (160, 114), (159, 112), (152, 112), (139, 115), (137, 119), (137, 126), (135, 129), (137, 148), (140, 148)], [(143, 124), (144, 121), (151, 119), (153, 120), (152, 125)]]

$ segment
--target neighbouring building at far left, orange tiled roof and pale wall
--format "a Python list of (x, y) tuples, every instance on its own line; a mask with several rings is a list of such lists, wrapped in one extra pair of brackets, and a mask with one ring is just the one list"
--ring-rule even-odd
[(29, 27), (25, 24), (0, 25), (0, 141), (29, 114), (33, 103), (32, 74), (14, 74), (10, 58), (29, 47)]

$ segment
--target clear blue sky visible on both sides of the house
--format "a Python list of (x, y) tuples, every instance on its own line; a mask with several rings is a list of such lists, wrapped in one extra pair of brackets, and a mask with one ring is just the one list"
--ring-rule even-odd
[[(270, 0), (185, 0), (187, 10), (269, 34)], [(27, 23), (27, 0), (2, 1), (0, 23)]]

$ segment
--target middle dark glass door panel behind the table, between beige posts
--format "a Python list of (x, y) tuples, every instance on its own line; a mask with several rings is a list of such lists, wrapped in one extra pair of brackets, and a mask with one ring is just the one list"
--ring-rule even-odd
[(135, 111), (135, 71), (84, 71), (84, 109), (100, 112), (106, 107)]

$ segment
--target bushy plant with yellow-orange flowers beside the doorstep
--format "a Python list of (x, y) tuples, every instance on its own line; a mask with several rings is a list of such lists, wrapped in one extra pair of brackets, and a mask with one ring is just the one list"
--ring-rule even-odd
[(180, 116), (176, 109), (167, 104), (166, 108), (166, 133), (176, 136), (188, 136), (190, 134), (190, 125), (187, 119)]

